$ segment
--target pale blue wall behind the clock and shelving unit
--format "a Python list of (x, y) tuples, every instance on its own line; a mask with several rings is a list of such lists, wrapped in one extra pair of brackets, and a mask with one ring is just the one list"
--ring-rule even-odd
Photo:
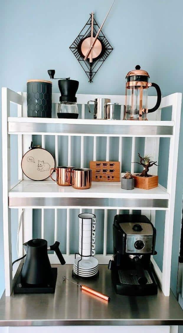
[[(182, 92), (183, 2), (181, 0), (173, 2), (116, 0), (103, 28), (114, 51), (96, 74), (94, 82), (88, 83), (86, 74), (69, 50), (69, 46), (88, 20), (89, 13), (94, 10), (96, 20), (101, 23), (111, 2), (111, 0), (1, 2), (0, 87), (26, 91), (27, 79), (48, 79), (47, 69), (55, 68), (57, 76), (71, 76), (72, 79), (79, 80), (78, 93), (124, 94), (126, 73), (136, 64), (140, 64), (150, 73), (151, 81), (160, 85), (163, 96)], [(58, 92), (56, 83), (53, 92)], [(153, 89), (151, 92), (155, 93)], [(180, 149), (172, 257), (171, 285), (174, 293), (183, 188), (182, 165), (183, 153)], [(1, 195), (0, 201), (2, 202)], [(160, 229), (163, 229), (162, 226)], [(159, 235), (163, 231), (161, 230)], [(0, 294), (4, 289), (2, 233), (1, 206)], [(16, 223), (13, 224), (13, 234), (15, 238)]]

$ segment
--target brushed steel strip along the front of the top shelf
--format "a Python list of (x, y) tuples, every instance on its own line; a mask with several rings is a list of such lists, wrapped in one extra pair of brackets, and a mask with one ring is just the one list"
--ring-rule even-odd
[(173, 126), (134, 126), (134, 125), (111, 125), (102, 124), (45, 124), (45, 123), (8, 123), (8, 133), (53, 133), (60, 135), (137, 135), (137, 136), (172, 136)]

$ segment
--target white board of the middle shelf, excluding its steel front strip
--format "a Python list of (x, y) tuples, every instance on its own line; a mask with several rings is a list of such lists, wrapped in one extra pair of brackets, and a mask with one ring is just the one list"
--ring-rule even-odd
[(80, 190), (72, 186), (59, 186), (52, 180), (22, 180), (9, 192), (10, 198), (15, 197), (44, 197), (54, 196), (57, 198), (141, 198), (141, 199), (169, 199), (169, 194), (160, 187), (149, 190), (134, 188), (125, 190), (121, 188), (120, 182), (107, 183), (92, 181), (89, 189)]

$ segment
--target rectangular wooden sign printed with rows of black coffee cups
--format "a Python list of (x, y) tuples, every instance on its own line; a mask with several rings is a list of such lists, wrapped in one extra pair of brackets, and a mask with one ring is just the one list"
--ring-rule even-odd
[(90, 161), (92, 181), (120, 181), (120, 162)]

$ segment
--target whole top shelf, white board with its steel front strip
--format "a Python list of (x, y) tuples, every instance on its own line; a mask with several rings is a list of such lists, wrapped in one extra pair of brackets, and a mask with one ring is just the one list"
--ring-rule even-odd
[(8, 117), (8, 134), (171, 137), (173, 121)]

